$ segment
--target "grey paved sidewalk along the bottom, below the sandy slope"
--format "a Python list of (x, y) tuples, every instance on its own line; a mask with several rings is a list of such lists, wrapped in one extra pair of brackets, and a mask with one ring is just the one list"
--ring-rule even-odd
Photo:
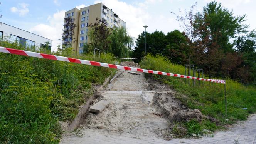
[(157, 138), (132, 137), (129, 134), (108, 135), (87, 129), (84, 137), (66, 136), (61, 144), (256, 144), (256, 114), (233, 128), (217, 132), (214, 137), (202, 139), (172, 139), (165, 141)]

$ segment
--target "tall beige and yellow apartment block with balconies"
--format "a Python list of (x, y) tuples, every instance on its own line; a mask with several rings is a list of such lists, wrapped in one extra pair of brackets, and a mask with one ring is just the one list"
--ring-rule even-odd
[(90, 5), (88, 7), (81, 8), (80, 10), (73, 8), (65, 13), (65, 18), (67, 17), (74, 18), (74, 24), (77, 26), (74, 29), (76, 42), (72, 42), (72, 48), (77, 53), (83, 53), (84, 44), (89, 43), (88, 26), (90, 23), (95, 23), (96, 18), (106, 20), (108, 26), (111, 28), (114, 26), (123, 26), (125, 28), (126, 25), (126, 23), (112, 11), (112, 9), (109, 9), (103, 5), (103, 3)]

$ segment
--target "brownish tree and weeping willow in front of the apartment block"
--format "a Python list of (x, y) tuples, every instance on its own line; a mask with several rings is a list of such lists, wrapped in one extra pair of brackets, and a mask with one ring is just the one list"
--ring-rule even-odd
[(125, 28), (110, 28), (104, 20), (96, 18), (96, 22), (89, 25), (89, 44), (84, 45), (84, 52), (89, 53), (98, 48), (105, 53), (123, 58), (131, 56), (133, 38)]

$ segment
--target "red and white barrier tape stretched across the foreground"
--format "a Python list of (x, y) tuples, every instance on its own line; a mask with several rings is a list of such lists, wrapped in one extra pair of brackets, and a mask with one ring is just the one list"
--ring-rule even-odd
[(85, 64), (85, 65), (103, 66), (103, 67), (115, 68), (115, 69), (119, 69), (119, 70), (138, 71), (138, 72), (142, 72), (142, 73), (153, 73), (153, 74), (159, 74), (159, 75), (165, 75), (165, 76), (174, 76), (174, 77), (179, 77), (179, 78), (196, 79), (196, 80), (200, 80), (200, 81), (209, 81), (209, 82), (213, 82), (213, 83), (222, 83), (222, 84), (226, 83), (226, 81), (219, 80), (219, 79), (196, 78), (196, 77), (184, 76), (184, 75), (180, 75), (180, 74), (165, 73), (165, 72), (153, 71), (153, 70), (145, 70), (145, 69), (141, 69), (141, 68), (113, 65), (113, 64), (108, 64), (108, 63), (100, 63), (100, 62), (96, 62), (96, 61), (80, 60), (80, 59), (76, 59), (76, 58), (67, 58), (67, 57), (63, 57), (63, 56), (48, 55), (48, 54), (44, 54), (44, 53), (35, 53), (32, 51), (17, 50), (17, 49), (12, 49), (12, 48), (0, 47), (0, 52), (10, 53), (10, 54), (15, 54), (15, 55), (22, 55), (22, 56), (30, 56), (30, 57), (35, 57), (35, 58), (44, 58), (44, 59), (49, 59), (49, 60), (80, 63), (80, 64)]

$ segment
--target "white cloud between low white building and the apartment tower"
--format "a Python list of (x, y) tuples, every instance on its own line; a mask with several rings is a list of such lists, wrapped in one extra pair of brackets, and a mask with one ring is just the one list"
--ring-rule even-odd
[(57, 46), (62, 43), (61, 34), (63, 33), (65, 12), (66, 10), (62, 10), (48, 16), (47, 21), (49, 24), (40, 23), (30, 28), (31, 32), (52, 40), (52, 51), (56, 51)]

